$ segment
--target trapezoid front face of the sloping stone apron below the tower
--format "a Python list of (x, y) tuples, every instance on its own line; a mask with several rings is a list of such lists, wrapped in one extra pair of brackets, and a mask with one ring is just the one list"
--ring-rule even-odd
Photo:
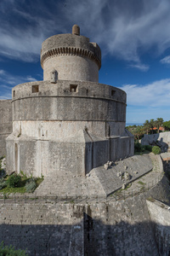
[(49, 172), (34, 192), (35, 195), (51, 196), (105, 196), (105, 191), (92, 170), (86, 177), (71, 172)]

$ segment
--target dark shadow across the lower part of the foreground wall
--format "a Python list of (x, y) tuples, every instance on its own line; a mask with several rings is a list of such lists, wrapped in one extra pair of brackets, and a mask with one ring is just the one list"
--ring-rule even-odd
[[(5, 245), (12, 244), (15, 248), (27, 249), (31, 256), (156, 256), (170, 253), (169, 227), (162, 226), (161, 237), (162, 230), (159, 227), (157, 232), (153, 223), (115, 221), (113, 225), (103, 224), (85, 212), (75, 225), (26, 225), (21, 221), (20, 225), (1, 224), (0, 230), (0, 241), (4, 241)], [(160, 245), (161, 254), (158, 253), (157, 245)]]

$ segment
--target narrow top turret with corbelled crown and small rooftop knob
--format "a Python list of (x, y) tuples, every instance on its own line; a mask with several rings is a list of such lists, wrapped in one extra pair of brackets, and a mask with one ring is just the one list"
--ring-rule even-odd
[[(99, 81), (101, 51), (98, 44), (80, 36), (80, 28), (72, 27), (72, 34), (60, 34), (42, 43), (41, 65), (43, 79)], [(52, 76), (51, 76), (52, 74)]]

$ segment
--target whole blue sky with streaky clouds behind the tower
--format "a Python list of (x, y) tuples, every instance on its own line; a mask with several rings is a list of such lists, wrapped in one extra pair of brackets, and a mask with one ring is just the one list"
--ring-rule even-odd
[(74, 24), (99, 44), (99, 83), (127, 92), (127, 123), (169, 120), (169, 0), (1, 0), (0, 99), (42, 80), (42, 41)]

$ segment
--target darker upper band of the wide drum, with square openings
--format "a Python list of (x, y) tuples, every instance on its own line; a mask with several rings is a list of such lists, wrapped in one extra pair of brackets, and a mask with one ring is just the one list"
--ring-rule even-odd
[[(33, 91), (35, 86), (36, 92)], [(75, 86), (75, 91), (71, 91), (72, 86)], [(19, 84), (13, 89), (12, 102), (14, 120), (125, 122), (126, 118), (126, 93), (110, 85), (92, 82)]]

